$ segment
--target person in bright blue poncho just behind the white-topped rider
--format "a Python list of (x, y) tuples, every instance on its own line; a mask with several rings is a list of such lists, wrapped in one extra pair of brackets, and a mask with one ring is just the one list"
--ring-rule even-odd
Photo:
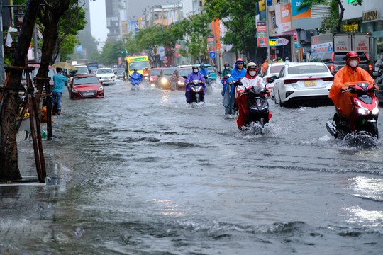
[(226, 84), (223, 84), (222, 95), (225, 114), (233, 114), (236, 111), (234, 83), (245, 77), (246, 69), (243, 68), (243, 64), (245, 64), (245, 61), (243, 61), (242, 58), (238, 58), (237, 61), (235, 61), (235, 67), (231, 70), (230, 77), (228, 77)]

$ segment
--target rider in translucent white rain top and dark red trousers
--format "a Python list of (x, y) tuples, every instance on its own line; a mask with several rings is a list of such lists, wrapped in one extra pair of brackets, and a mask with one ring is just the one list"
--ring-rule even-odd
[(236, 88), (236, 98), (238, 103), (238, 119), (237, 125), (239, 129), (242, 129), (246, 121), (246, 113), (248, 111), (248, 96), (243, 94), (245, 89), (250, 89), (252, 86), (265, 86), (265, 81), (257, 76), (258, 68), (253, 62), (248, 63), (245, 77), (240, 79), (242, 85), (238, 85)]

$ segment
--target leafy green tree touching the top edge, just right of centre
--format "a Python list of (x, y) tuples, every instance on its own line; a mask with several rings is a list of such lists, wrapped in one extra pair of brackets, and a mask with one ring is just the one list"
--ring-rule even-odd
[(257, 48), (255, 40), (255, 3), (253, 0), (206, 0), (204, 9), (211, 20), (219, 18), (228, 32), (223, 37), (225, 44), (232, 44), (233, 50), (245, 53)]

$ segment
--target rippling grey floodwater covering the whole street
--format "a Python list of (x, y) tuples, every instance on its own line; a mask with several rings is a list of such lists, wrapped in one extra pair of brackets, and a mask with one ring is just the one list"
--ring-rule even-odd
[(0, 254), (382, 254), (382, 140), (334, 140), (333, 106), (272, 102), (265, 135), (241, 133), (219, 88), (195, 107), (123, 81), (65, 94), (44, 142), (60, 181), (1, 220)]

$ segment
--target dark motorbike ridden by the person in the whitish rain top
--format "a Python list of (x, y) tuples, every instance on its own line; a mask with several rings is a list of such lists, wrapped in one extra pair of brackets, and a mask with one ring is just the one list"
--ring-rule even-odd
[[(240, 85), (240, 82), (238, 82), (238, 85)], [(269, 93), (270, 92), (266, 87), (252, 86), (243, 91), (243, 94), (246, 95), (245, 99), (237, 99), (238, 106), (244, 106), (244, 127), (255, 123), (260, 127), (265, 128), (265, 124), (269, 123), (269, 120), (272, 117), (272, 114), (269, 111), (269, 103), (267, 102)]]

